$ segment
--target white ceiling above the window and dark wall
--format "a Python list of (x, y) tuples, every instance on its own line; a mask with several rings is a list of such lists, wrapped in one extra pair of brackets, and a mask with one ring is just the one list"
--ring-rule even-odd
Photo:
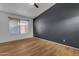
[(39, 8), (36, 8), (29, 3), (0, 3), (0, 11), (35, 18), (54, 4), (55, 3), (38, 3)]

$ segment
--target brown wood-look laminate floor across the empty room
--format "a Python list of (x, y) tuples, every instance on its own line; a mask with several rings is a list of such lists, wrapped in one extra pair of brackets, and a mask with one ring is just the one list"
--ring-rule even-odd
[(0, 44), (2, 56), (79, 56), (79, 50), (40, 38), (28, 38)]

